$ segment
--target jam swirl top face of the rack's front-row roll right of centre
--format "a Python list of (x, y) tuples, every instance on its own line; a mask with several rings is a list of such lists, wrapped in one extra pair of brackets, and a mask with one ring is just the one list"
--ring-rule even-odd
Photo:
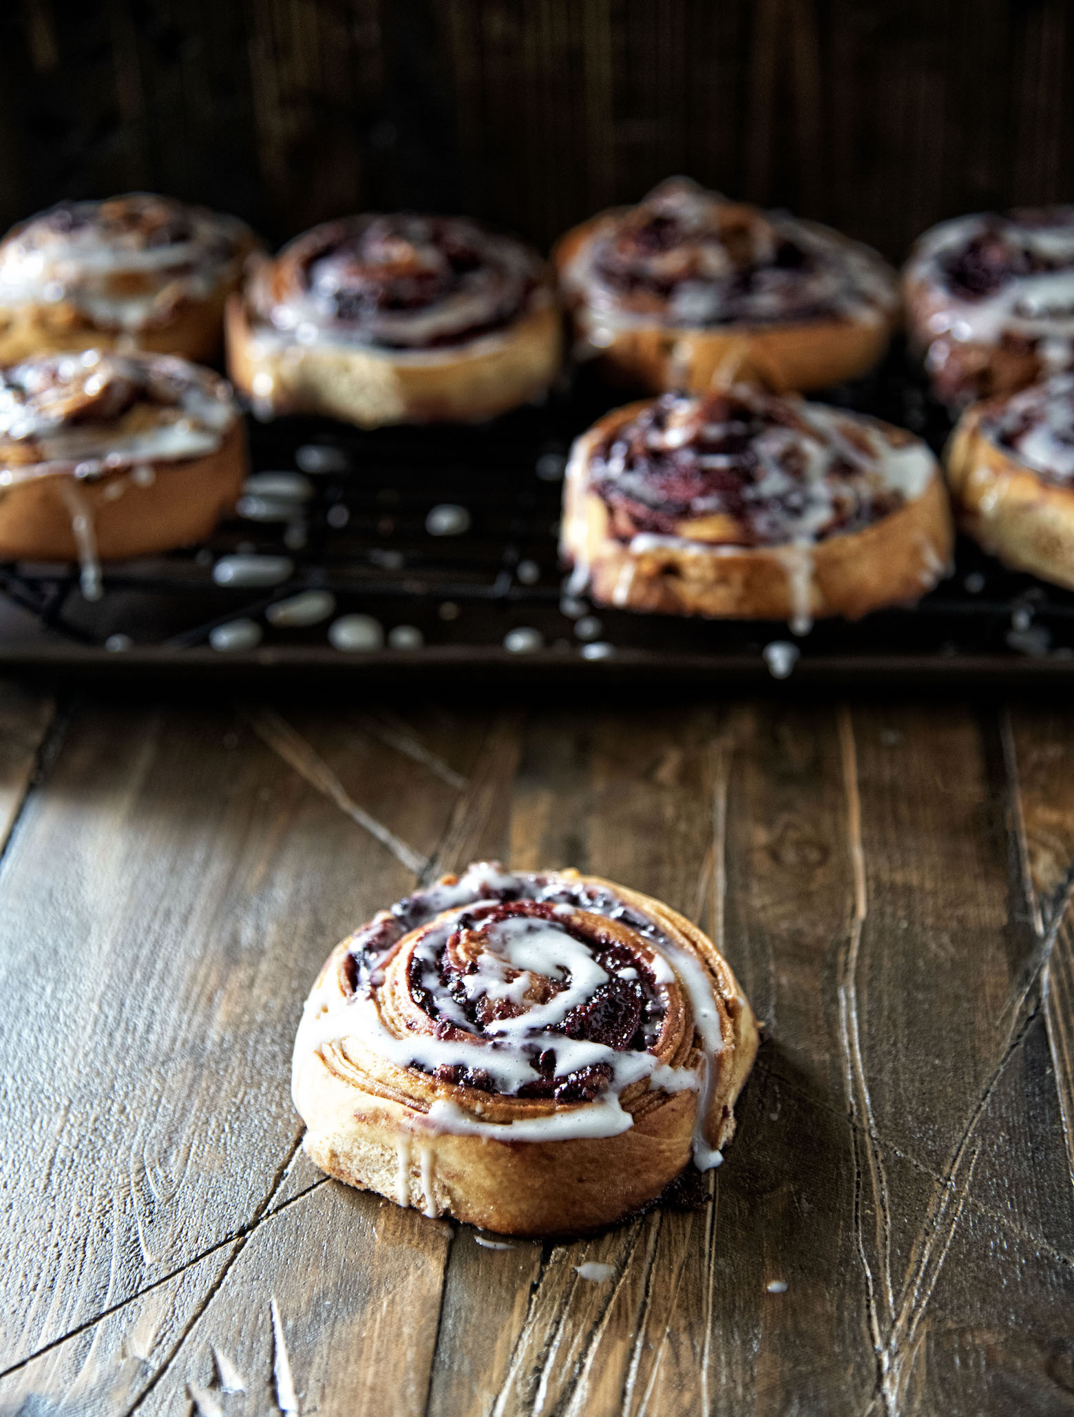
[(911, 434), (747, 385), (665, 394), (589, 453), (611, 534), (740, 547), (859, 531), (920, 496), (934, 473)]

